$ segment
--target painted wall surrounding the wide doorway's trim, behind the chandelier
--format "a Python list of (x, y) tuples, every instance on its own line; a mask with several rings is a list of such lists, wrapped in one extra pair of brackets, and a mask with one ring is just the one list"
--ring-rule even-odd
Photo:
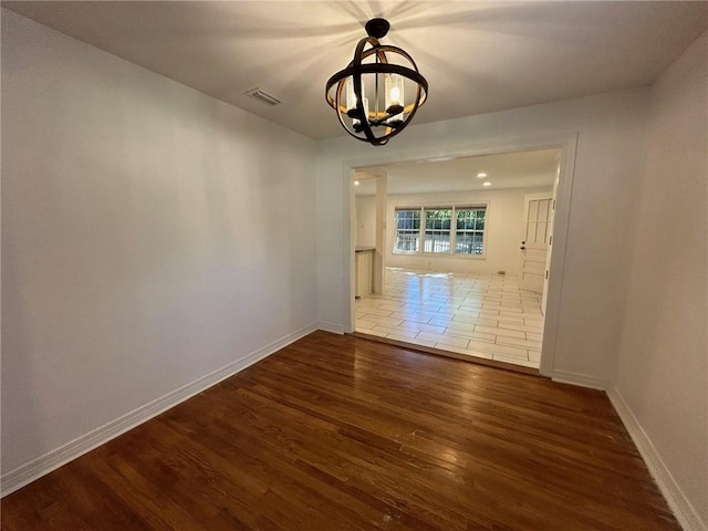
[[(434, 96), (433, 92), (430, 97)], [(383, 148), (323, 140), (317, 157), (317, 300), (331, 330), (350, 326), (348, 165), (378, 165), (518, 139), (577, 134), (554, 371), (602, 385), (614, 372), (624, 304), (632, 188), (639, 171), (648, 90), (415, 125)], [(421, 110), (420, 112), (424, 112)]]

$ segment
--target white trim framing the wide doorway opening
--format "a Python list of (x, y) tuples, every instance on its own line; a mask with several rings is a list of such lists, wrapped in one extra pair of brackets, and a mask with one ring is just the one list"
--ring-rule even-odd
[(461, 147), (431, 147), (410, 150), (382, 150), (371, 156), (347, 159), (342, 163), (343, 190), (345, 195), (343, 212), (344, 227), (342, 235), (344, 282), (342, 290), (343, 304), (343, 332), (354, 332), (354, 210), (355, 189), (354, 171), (358, 167), (386, 165), (393, 163), (407, 163), (425, 158), (455, 156), (469, 157), (477, 155), (491, 155), (510, 152), (532, 149), (558, 148), (561, 150), (561, 170), (555, 204), (555, 220), (553, 223), (553, 256), (549, 269), (549, 293), (546, 315), (543, 326), (543, 343), (541, 347), (541, 363), (539, 372), (544, 376), (551, 376), (555, 364), (556, 335), (559, 332), (559, 317), (563, 292), (563, 272), (565, 267), (565, 250), (568, 229), (570, 225), (571, 198), (573, 190), (573, 177), (575, 173), (575, 157), (577, 152), (577, 132), (569, 132), (555, 135), (538, 135), (524, 138), (496, 139), (477, 142)]

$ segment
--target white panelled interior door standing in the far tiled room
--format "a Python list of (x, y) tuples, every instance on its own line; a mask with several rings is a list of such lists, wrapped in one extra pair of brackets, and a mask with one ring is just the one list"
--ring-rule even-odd
[(524, 196), (519, 279), (519, 288), (522, 290), (543, 293), (552, 226), (553, 192)]

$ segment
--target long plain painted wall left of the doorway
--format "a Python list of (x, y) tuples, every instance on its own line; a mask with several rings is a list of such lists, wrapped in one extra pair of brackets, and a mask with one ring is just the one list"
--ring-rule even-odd
[(313, 325), (314, 143), (2, 10), (2, 469)]

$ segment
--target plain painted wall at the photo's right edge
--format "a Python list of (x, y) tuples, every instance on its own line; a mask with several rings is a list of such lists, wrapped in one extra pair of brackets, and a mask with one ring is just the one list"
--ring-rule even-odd
[(708, 33), (658, 80), (615, 387), (708, 529)]

